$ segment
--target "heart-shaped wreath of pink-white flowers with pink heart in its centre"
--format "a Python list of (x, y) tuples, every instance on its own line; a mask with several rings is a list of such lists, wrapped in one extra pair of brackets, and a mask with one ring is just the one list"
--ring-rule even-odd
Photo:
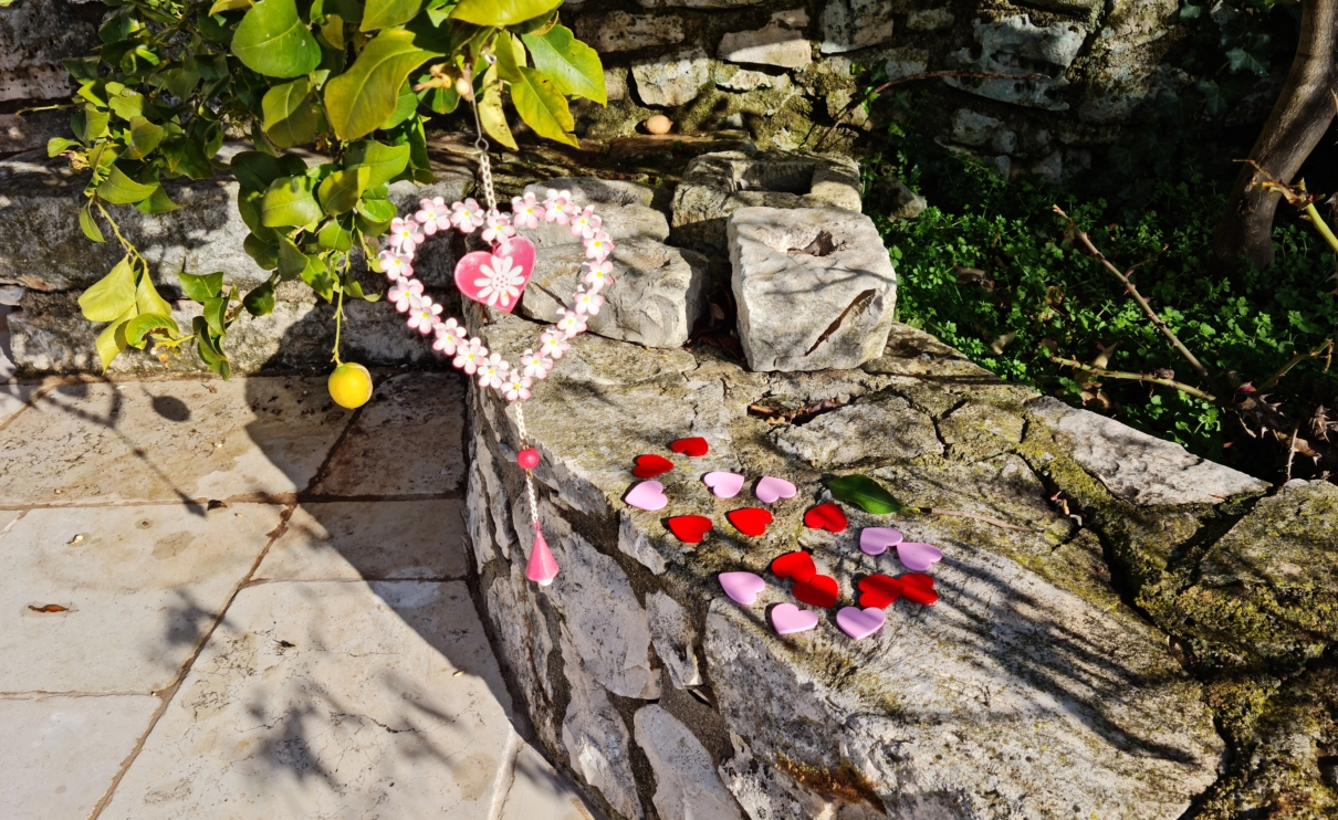
[[(518, 237), (516, 227), (535, 229), (539, 219), (557, 222), (571, 229), (573, 237), (585, 243), (586, 262), (581, 266), (581, 286), (571, 297), (571, 305), (561, 310), (557, 324), (539, 334), (539, 349), (520, 354), (520, 367), (490, 353), (478, 337), (470, 337), (464, 325), (455, 318), (442, 320), (442, 305), (423, 293), (423, 282), (413, 278), (413, 257), (427, 237), (455, 227), (463, 234), (483, 229), (483, 241), (492, 250), (466, 254), (455, 266), (455, 284), (467, 298), (510, 313), (520, 304), (520, 296), (534, 272), (534, 243)], [(570, 341), (585, 333), (586, 322), (599, 314), (603, 297), (599, 294), (613, 284), (613, 239), (602, 229), (602, 221), (593, 206), (581, 210), (571, 202), (571, 191), (549, 190), (543, 202), (534, 194), (511, 199), (511, 214), (495, 209), (484, 211), (472, 198), (455, 202), (450, 207), (444, 199), (423, 199), (412, 217), (391, 221), (389, 247), (377, 257), (380, 269), (393, 285), (388, 298), (400, 313), (408, 314), (409, 328), (435, 336), (432, 349), (454, 356), (451, 364), (470, 376), (476, 376), (480, 388), (495, 389), (507, 401), (524, 401), (535, 380), (546, 379), (553, 363), (571, 348)]]

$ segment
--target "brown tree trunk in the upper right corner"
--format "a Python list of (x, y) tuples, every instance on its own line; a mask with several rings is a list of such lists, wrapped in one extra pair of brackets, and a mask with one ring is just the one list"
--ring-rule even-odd
[[(1338, 48), (1338, 0), (1303, 0), (1301, 43), (1287, 84), (1255, 140), (1250, 158), (1282, 182), (1291, 182), (1334, 119), (1334, 52)], [(1278, 194), (1254, 187), (1262, 178), (1244, 165), (1227, 213), (1212, 241), (1212, 266), (1234, 276), (1242, 260), (1258, 269), (1272, 264), (1272, 215)]]

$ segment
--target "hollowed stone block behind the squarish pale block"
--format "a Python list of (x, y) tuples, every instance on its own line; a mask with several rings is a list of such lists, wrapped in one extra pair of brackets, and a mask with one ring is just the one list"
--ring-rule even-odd
[(725, 251), (725, 221), (740, 207), (860, 210), (859, 166), (847, 157), (719, 151), (688, 163), (673, 195), (673, 241)]

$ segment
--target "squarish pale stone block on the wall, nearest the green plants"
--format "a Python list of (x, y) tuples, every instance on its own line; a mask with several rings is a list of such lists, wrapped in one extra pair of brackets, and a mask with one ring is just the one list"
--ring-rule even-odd
[(855, 368), (883, 353), (896, 273), (872, 219), (834, 207), (745, 207), (731, 214), (728, 234), (749, 368)]

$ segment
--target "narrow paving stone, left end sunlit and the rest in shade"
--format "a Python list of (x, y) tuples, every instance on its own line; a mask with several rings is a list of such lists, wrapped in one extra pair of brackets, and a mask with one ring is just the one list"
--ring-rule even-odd
[(411, 581), (468, 573), (464, 502), (304, 503), (256, 571), (264, 581)]

